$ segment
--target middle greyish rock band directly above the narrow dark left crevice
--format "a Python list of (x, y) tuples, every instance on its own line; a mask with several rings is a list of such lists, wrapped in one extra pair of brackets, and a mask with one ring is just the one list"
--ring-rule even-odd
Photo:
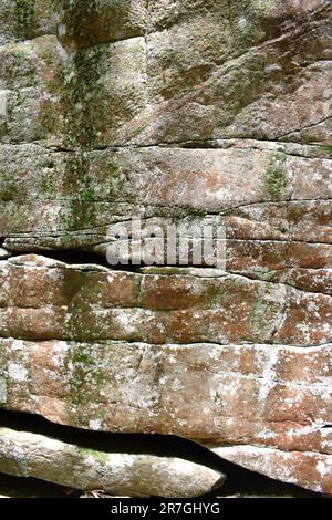
[[(80, 247), (105, 254), (110, 226), (132, 216), (142, 217), (143, 223), (158, 217), (162, 225), (169, 218), (187, 223), (209, 219), (226, 226), (229, 272), (274, 280), (282, 270), (329, 269), (331, 160), (292, 156), (288, 148), (278, 152), (262, 144), (249, 149), (235, 144), (228, 149), (68, 154), (37, 145), (3, 146), (4, 247)], [(310, 154), (310, 147), (301, 153)], [(313, 275), (307, 272), (307, 287), (315, 291)], [(329, 290), (326, 280), (323, 292)]]

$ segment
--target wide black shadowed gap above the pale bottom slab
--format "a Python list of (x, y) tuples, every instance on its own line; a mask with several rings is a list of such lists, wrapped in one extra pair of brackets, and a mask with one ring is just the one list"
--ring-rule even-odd
[(263, 489), (266, 493), (288, 495), (294, 497), (320, 497), (320, 493), (308, 491), (295, 485), (283, 483), (234, 462), (222, 459), (208, 448), (174, 435), (159, 434), (113, 434), (92, 431), (70, 426), (53, 424), (41, 416), (21, 412), (1, 409), (0, 427), (17, 431), (28, 431), (61, 440), (63, 443), (108, 454), (155, 455), (160, 457), (177, 457), (206, 466), (227, 475), (227, 480), (220, 488), (217, 485), (204, 497), (228, 496)]

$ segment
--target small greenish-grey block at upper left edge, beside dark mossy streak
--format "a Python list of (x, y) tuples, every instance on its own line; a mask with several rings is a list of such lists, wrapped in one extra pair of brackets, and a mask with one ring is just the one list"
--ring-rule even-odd
[(0, 142), (61, 144), (65, 63), (54, 35), (0, 46)]

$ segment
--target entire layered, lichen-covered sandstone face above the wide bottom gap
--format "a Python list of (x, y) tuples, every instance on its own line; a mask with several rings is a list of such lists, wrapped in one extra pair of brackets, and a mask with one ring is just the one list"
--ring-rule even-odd
[[(330, 38), (324, 0), (0, 2), (2, 408), (332, 493)], [(224, 227), (222, 267), (106, 267), (132, 217)], [(25, 435), (0, 471), (52, 480)]]

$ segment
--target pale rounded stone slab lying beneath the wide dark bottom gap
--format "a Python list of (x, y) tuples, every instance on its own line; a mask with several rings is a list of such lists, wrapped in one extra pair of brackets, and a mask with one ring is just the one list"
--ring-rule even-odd
[(179, 458), (97, 451), (8, 428), (0, 428), (0, 465), (10, 475), (129, 497), (196, 497), (222, 478)]

